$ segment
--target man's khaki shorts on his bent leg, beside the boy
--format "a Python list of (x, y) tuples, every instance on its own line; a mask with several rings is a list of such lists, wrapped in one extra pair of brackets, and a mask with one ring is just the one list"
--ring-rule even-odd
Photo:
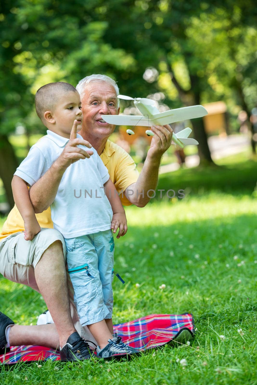
[(24, 233), (10, 234), (0, 241), (0, 273), (10, 281), (22, 283), (38, 290), (34, 268), (43, 252), (55, 241), (62, 242), (66, 261), (66, 247), (63, 236), (55, 229), (44, 229), (32, 241), (25, 241)]

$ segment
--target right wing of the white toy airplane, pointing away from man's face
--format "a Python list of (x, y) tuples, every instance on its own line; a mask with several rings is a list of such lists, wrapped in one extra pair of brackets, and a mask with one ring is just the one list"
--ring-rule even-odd
[(159, 114), (155, 114), (151, 118), (154, 125), (160, 124), (163, 126), (164, 124), (200, 118), (207, 114), (208, 112), (202, 105), (191, 105), (190, 107), (159, 112)]

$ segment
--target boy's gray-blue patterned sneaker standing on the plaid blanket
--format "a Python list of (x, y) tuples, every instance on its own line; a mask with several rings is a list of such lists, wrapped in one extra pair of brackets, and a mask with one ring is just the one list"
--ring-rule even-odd
[(110, 360), (112, 358), (118, 360), (122, 357), (132, 355), (135, 356), (139, 354), (139, 350), (123, 343), (117, 333), (114, 334), (112, 340), (108, 340), (108, 345), (106, 345), (103, 349), (100, 349), (100, 347), (97, 346), (97, 357), (104, 358), (105, 360)]

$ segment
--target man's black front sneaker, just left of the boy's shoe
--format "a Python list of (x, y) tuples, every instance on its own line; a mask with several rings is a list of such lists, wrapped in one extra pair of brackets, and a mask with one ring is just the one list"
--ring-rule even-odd
[(83, 361), (94, 356), (93, 350), (84, 341), (77, 331), (72, 333), (63, 348), (60, 350), (61, 361)]

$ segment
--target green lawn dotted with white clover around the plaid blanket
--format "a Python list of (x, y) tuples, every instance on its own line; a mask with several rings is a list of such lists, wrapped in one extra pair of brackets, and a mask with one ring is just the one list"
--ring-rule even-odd
[[(113, 320), (191, 312), (197, 331), (190, 346), (164, 346), (129, 363), (21, 364), (2, 368), (0, 384), (256, 384), (256, 211), (253, 196), (217, 191), (126, 209), (129, 231), (115, 242), (115, 270), (126, 283), (113, 281)], [(35, 324), (42, 297), (0, 283), (0, 310)]]

